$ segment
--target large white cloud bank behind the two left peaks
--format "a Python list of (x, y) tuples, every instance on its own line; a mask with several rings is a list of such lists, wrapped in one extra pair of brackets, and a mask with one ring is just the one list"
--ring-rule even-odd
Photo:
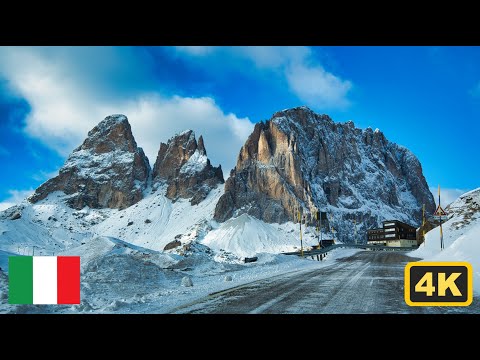
[[(67, 156), (103, 118), (122, 113), (129, 118), (135, 139), (152, 164), (160, 142), (167, 141), (176, 132), (192, 129), (197, 137), (204, 135), (212, 163), (220, 163), (224, 173), (229, 173), (240, 147), (253, 129), (248, 118), (225, 114), (210, 97), (167, 97), (146, 90), (116, 96), (115, 91), (102, 85), (104, 75), (98, 67), (105, 71), (120, 67), (119, 76), (124, 76), (126, 65), (118, 65), (122, 64), (124, 54), (104, 48), (90, 53), (93, 50), (86, 49), (89, 58), (108, 58), (104, 60), (106, 64), (93, 63), (89, 67), (85, 65), (89, 59), (80, 50), (0, 49), (0, 76), (8, 81), (12, 92), (28, 101), (32, 109), (26, 118), (28, 135)], [(76, 62), (79, 56), (82, 61)], [(129, 69), (143, 66), (141, 60), (129, 58), (128, 61)], [(138, 77), (145, 78), (142, 74)]]

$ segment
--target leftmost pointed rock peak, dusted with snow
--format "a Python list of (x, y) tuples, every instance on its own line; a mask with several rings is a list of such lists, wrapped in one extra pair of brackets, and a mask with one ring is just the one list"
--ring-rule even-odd
[(29, 198), (33, 203), (54, 191), (75, 209), (126, 208), (142, 199), (150, 173), (148, 158), (124, 115), (107, 116), (68, 157), (58, 176)]

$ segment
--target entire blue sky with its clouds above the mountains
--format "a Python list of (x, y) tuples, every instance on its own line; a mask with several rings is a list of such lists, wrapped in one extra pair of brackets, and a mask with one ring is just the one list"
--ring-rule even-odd
[(228, 174), (255, 122), (299, 105), (379, 128), (448, 202), (480, 186), (479, 64), (479, 47), (0, 47), (0, 209), (111, 113), (151, 163), (192, 128)]

